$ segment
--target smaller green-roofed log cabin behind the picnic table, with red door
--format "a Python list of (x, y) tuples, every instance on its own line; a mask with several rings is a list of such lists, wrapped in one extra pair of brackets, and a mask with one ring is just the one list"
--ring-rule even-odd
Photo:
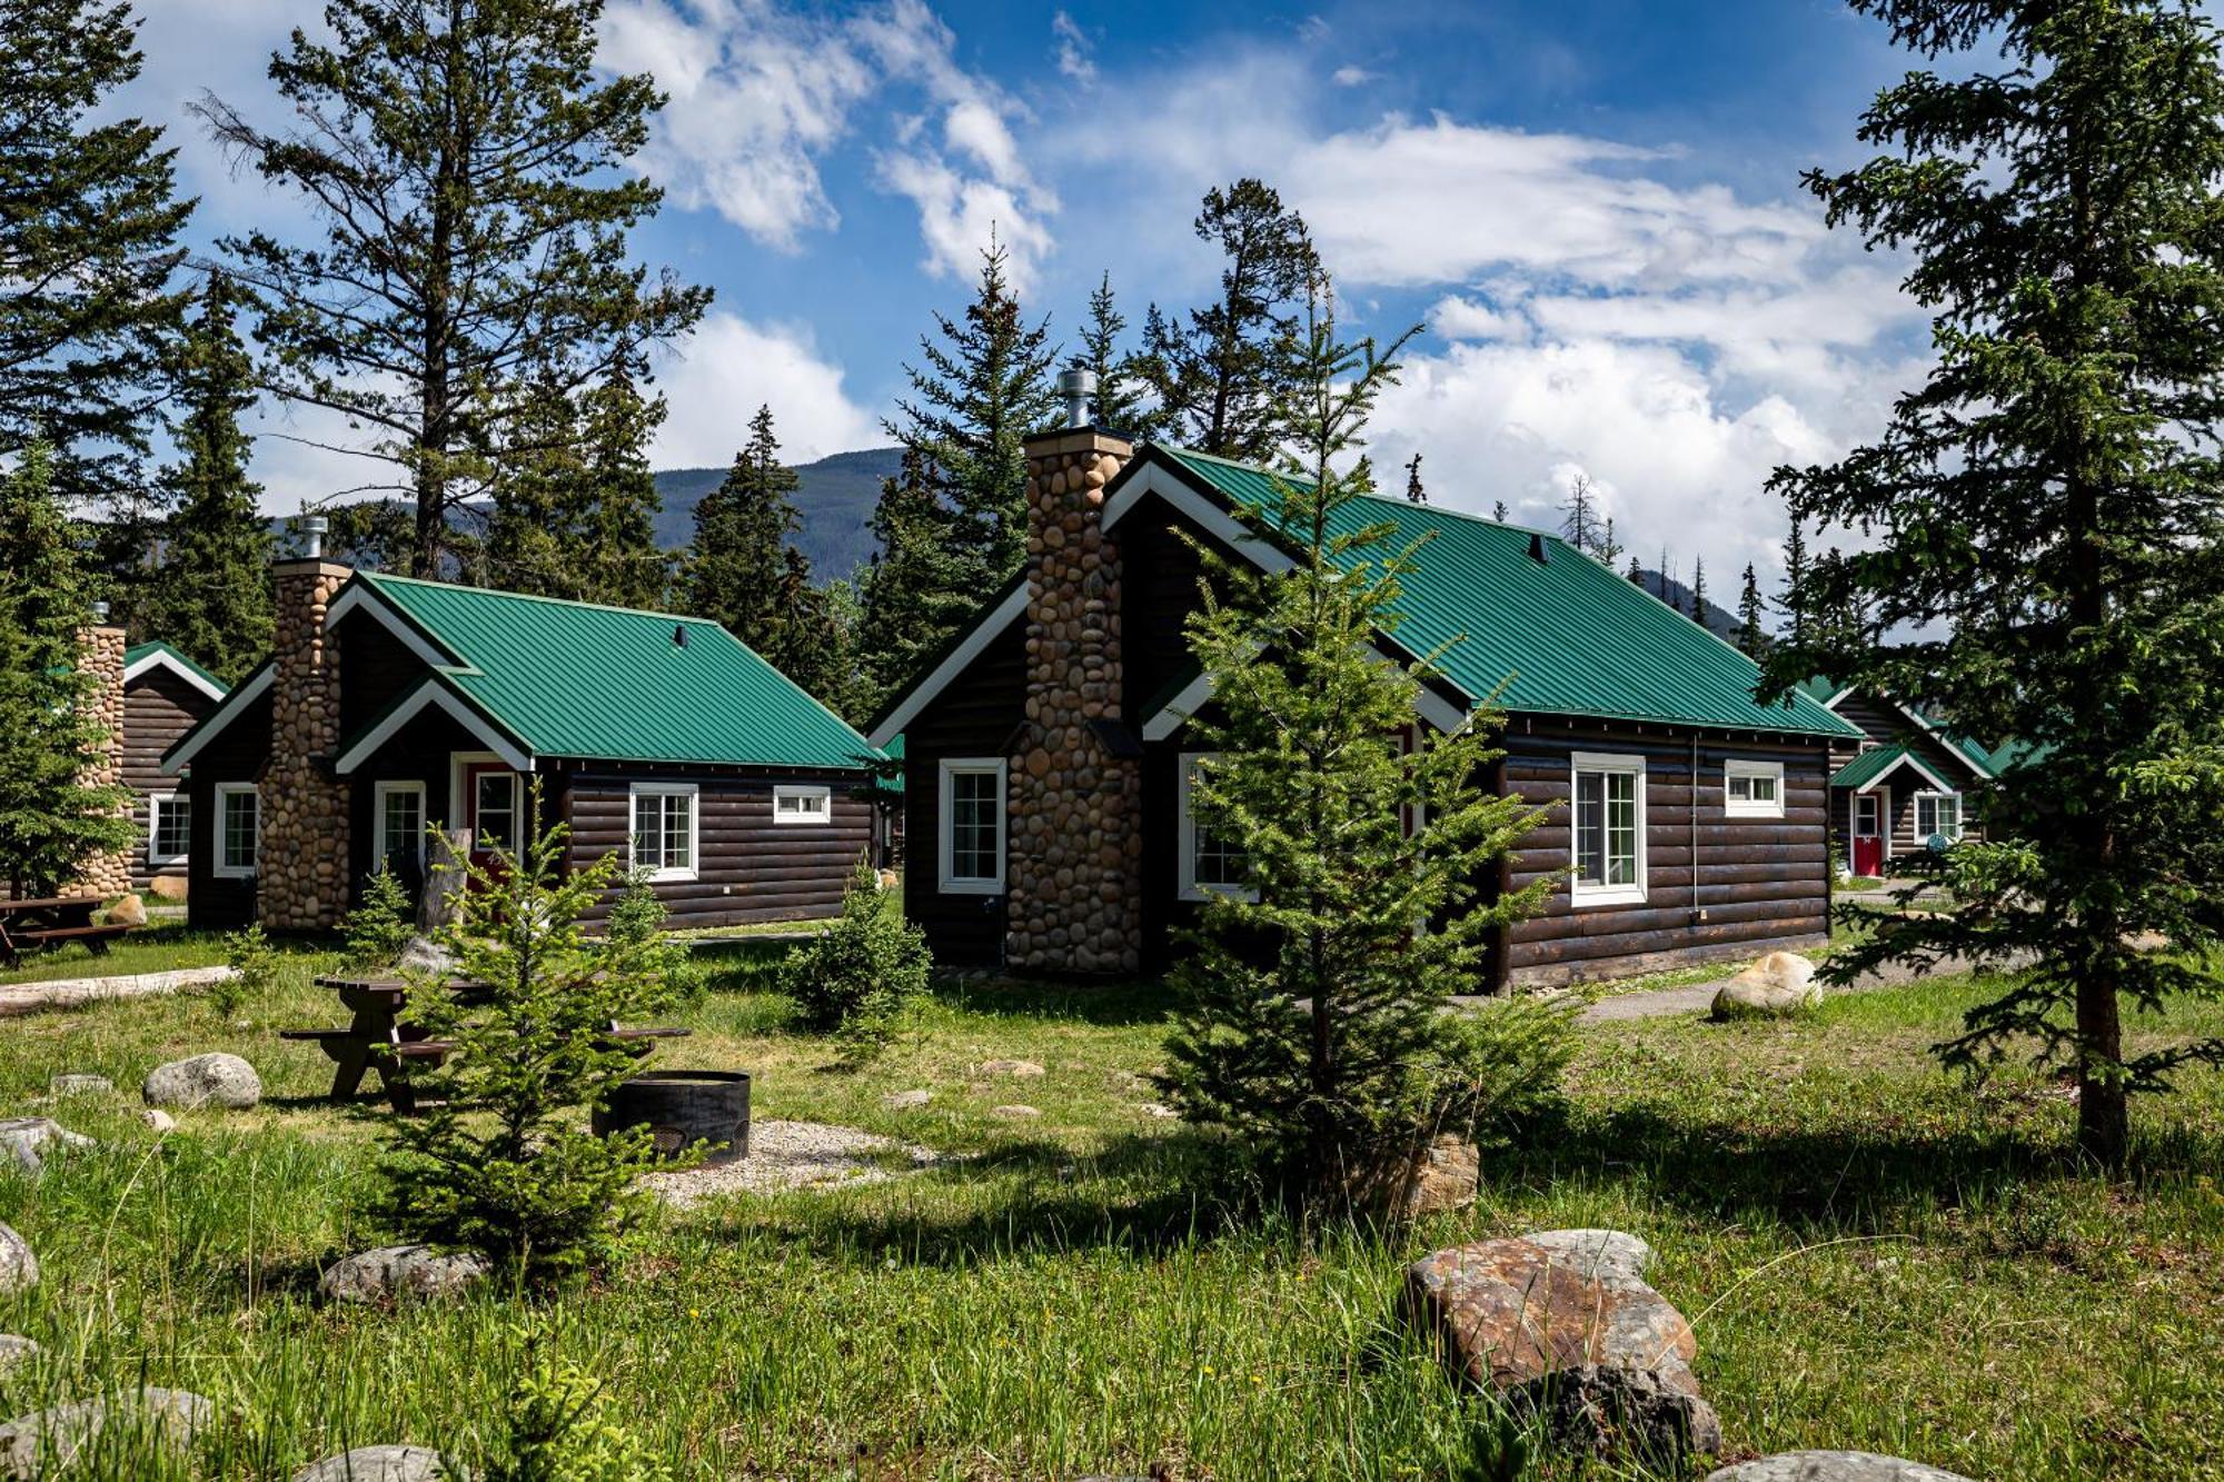
[[(331, 930), (427, 826), (616, 854), (676, 928), (823, 917), (874, 837), (872, 745), (707, 619), (276, 567), (269, 661), (162, 757), (189, 777), (193, 926)], [(592, 919), (607, 910), (607, 899)]]

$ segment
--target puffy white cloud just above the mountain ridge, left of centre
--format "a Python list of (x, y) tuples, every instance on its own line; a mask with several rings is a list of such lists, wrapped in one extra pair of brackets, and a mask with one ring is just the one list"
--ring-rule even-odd
[(810, 463), (881, 441), (881, 423), (850, 401), (843, 369), (818, 356), (807, 327), (754, 325), (712, 312), (658, 369), (669, 414), (656, 467), (723, 467), (758, 405), (772, 407), (781, 454)]

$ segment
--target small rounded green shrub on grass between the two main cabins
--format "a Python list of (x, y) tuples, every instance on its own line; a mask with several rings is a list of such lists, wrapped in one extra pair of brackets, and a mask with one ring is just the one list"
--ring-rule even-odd
[(834, 1035), (845, 1064), (878, 1055), (927, 995), (927, 937), (892, 910), (878, 872), (858, 863), (841, 919), (781, 966), (781, 990), (803, 1026)]

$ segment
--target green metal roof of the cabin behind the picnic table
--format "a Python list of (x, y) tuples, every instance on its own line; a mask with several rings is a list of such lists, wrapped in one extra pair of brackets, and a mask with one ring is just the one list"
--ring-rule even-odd
[(538, 757), (856, 768), (876, 754), (709, 619), (378, 572), (354, 581), (445, 650), (440, 679)]

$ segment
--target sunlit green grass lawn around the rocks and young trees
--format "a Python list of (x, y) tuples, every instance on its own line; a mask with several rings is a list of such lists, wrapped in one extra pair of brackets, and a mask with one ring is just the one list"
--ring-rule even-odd
[[(138, 943), (133, 943), (136, 948)], [(151, 946), (151, 943), (149, 943)], [(102, 1153), (0, 1173), (0, 1219), (47, 1268), (0, 1331), (47, 1355), (0, 1373), (0, 1417), (102, 1382), (182, 1384), (238, 1413), (207, 1478), (287, 1478), (351, 1444), (478, 1458), (520, 1304), (318, 1311), (367, 1213), (383, 1113), (329, 1108), (325, 1061), (271, 1030), (336, 1021), (316, 959), (220, 1026), (198, 999), (0, 1024), (0, 1115), (47, 1077), (131, 1088), (160, 1059), (229, 1048), (262, 1070), (251, 1113), (156, 1139), (136, 1097), (73, 1099)], [(1902, 1453), (1975, 1478), (2224, 1475), (2224, 1077), (2137, 1110), (2139, 1170), (2059, 1157), (2073, 1108), (2006, 1075), (1970, 1095), (1926, 1046), (1979, 988), (1835, 999), (1761, 1026), (1586, 1033), (1566, 1126), (1501, 1153), (1479, 1206), (1319, 1244), (1232, 1224), (1194, 1144), (1141, 1110), (1154, 988), (950, 986), (919, 1041), (861, 1075), (783, 1030), (747, 966), (683, 1015), (672, 1066), (756, 1075), (758, 1117), (810, 1117), (976, 1157), (832, 1193), (701, 1206), (636, 1233), (549, 1317), (614, 1415), (687, 1478), (1468, 1478), (1481, 1406), (1392, 1322), (1432, 1246), (1610, 1224), (1659, 1248), (1697, 1373), (1737, 1455)], [(2175, 1033), (2224, 1033), (2186, 1008)], [(1023, 1057), (1043, 1079), (990, 1079)], [(925, 1086), (923, 1113), (887, 1113)], [(992, 1106), (1025, 1101), (1034, 1122)], [(147, 1469), (113, 1475), (156, 1475)], [(182, 1475), (182, 1473), (180, 1473)], [(1546, 1460), (1535, 1475), (1637, 1475)]]

